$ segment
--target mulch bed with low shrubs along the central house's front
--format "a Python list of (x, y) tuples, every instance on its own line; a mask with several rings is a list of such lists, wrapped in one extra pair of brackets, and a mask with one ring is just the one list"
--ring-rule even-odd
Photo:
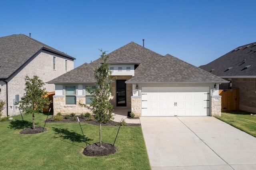
[[(77, 116), (76, 116), (77, 117)], [(86, 121), (86, 118), (82, 119), (80, 116), (78, 116), (79, 118), (79, 121), (82, 122), (82, 123), (89, 123), (89, 124), (92, 124), (92, 125), (97, 125), (99, 126), (100, 123), (98, 123), (96, 120), (91, 120), (91, 121)], [(134, 117), (135, 118), (135, 117)], [(134, 119), (132, 118), (132, 119)], [(139, 117), (138, 117), (139, 118)], [(49, 119), (47, 119), (47, 123), (75, 123), (75, 122), (78, 122), (78, 120), (76, 119), (76, 121), (74, 121), (74, 119), (72, 117), (68, 118), (68, 119), (63, 119), (61, 121), (53, 121), (52, 120), (52, 117), (50, 117)], [(116, 126), (118, 122), (116, 121), (112, 121), (110, 120), (109, 123), (102, 123), (101, 125), (102, 126)], [(126, 126), (141, 126), (140, 123), (127, 123)]]

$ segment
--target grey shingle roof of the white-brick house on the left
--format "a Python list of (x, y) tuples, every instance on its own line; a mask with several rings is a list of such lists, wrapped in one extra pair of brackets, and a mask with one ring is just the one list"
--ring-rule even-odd
[(70, 55), (23, 34), (0, 37), (0, 80), (8, 79), (40, 50), (50, 51), (75, 60)]

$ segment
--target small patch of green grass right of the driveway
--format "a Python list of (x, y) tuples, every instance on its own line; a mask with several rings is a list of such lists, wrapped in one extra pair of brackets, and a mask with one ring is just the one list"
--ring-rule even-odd
[(226, 111), (222, 112), (221, 116), (216, 118), (256, 137), (256, 115), (250, 114), (250, 112), (241, 110)]

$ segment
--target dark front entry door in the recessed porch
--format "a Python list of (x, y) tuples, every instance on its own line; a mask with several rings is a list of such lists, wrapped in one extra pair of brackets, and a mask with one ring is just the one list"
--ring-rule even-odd
[(126, 80), (116, 80), (116, 106), (126, 106)]

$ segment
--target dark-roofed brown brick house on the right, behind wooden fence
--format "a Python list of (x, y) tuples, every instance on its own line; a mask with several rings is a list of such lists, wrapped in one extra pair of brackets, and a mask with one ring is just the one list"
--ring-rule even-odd
[(256, 113), (256, 43), (237, 47), (200, 68), (230, 81), (220, 89), (239, 88), (239, 109)]

